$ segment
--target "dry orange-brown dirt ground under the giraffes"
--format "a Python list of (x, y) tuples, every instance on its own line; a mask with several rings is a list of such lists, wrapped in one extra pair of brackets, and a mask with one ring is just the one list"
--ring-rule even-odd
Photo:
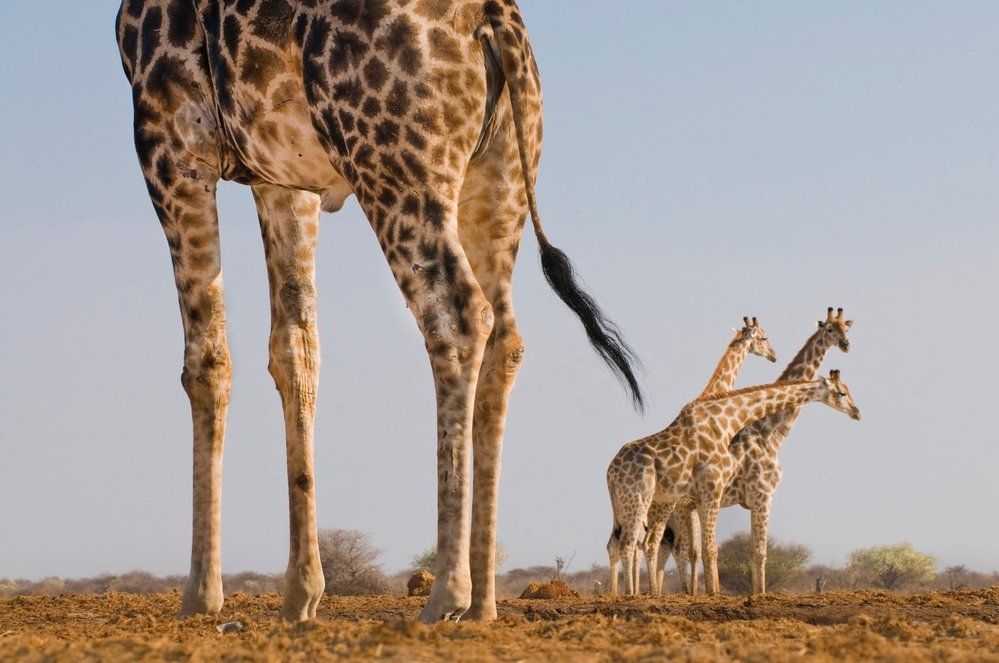
[[(276, 620), (280, 597), (226, 597), (218, 617), (174, 618), (180, 595), (0, 599), (0, 661), (607, 661), (738, 658), (999, 661), (999, 587), (662, 599), (509, 599), (500, 619), (426, 626), (426, 599), (326, 597), (313, 622)], [(242, 629), (220, 633), (239, 621)]]

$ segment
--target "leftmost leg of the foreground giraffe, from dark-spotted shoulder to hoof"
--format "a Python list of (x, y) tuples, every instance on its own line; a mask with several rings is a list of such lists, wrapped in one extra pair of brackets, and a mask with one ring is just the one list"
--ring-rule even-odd
[[(131, 9), (143, 11), (138, 3)], [(143, 24), (161, 10), (145, 11)], [(215, 206), (218, 133), (207, 101), (210, 83), (195, 51), (186, 58), (161, 58), (166, 40), (144, 40), (140, 59), (135, 39), (127, 47), (124, 23), (119, 29), (133, 89), (135, 150), (170, 248), (184, 324), (181, 382), (194, 423), (194, 505), (191, 570), (180, 614), (211, 614), (222, 609), (222, 443), (231, 381)]]

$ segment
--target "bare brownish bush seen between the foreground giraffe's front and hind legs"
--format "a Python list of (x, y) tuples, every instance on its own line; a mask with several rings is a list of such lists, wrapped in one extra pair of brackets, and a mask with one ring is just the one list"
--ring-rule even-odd
[(319, 558), (327, 594), (385, 594), (389, 583), (379, 562), (381, 556), (382, 551), (360, 530), (319, 530)]

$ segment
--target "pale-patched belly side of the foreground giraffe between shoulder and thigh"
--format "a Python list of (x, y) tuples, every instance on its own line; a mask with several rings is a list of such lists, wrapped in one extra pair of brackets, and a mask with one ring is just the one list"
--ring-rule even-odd
[(273, 11), (262, 0), (239, 8), (203, 4), (210, 9), (206, 50), (227, 146), (256, 177), (325, 193), (333, 202), (324, 200), (324, 208), (338, 208), (349, 188), (312, 125), (293, 38), (295, 11), (290, 5)]

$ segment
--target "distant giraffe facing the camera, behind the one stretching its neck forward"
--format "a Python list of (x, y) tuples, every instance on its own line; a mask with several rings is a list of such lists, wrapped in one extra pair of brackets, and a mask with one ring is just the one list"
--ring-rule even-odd
[[(838, 347), (843, 352), (850, 351), (847, 337), (853, 320), (846, 320), (843, 309), (833, 313), (830, 306), (826, 319), (818, 321), (818, 329), (798, 351), (784, 372), (777, 378), (784, 380), (814, 380), (826, 352)], [(755, 421), (732, 439), (729, 450), (735, 458), (736, 470), (731, 483), (725, 488), (721, 507), (739, 504), (750, 512), (750, 550), (752, 554), (753, 593), (763, 594), (766, 589), (767, 526), (770, 522), (770, 507), (774, 493), (783, 476), (777, 454), (798, 419), (799, 409), (782, 410), (769, 417)], [(691, 517), (693, 522), (691, 522)], [(686, 564), (689, 560), (692, 593), (697, 593), (697, 552), (691, 550), (691, 537), (695, 534), (696, 515), (689, 509), (678, 509), (674, 513), (677, 531), (675, 540), (677, 569), (681, 584), (686, 584)], [(665, 537), (669, 539), (670, 537)]]

